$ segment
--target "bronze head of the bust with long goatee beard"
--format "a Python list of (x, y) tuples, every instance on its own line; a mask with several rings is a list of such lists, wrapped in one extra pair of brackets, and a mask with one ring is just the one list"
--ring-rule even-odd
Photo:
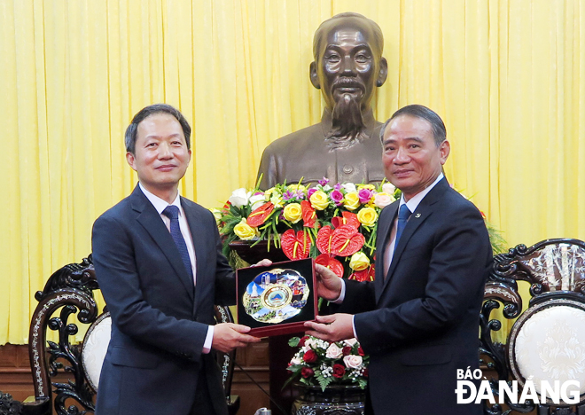
[(358, 13), (337, 14), (317, 28), (310, 79), (331, 111), (331, 137), (349, 145), (359, 138), (374, 88), (386, 81), (383, 49), (378, 24)]

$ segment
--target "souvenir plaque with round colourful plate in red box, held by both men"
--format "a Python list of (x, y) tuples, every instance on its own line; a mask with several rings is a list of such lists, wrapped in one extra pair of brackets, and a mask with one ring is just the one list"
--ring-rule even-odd
[(236, 272), (238, 324), (252, 327), (256, 337), (302, 332), (315, 320), (315, 266), (308, 258), (276, 262)]

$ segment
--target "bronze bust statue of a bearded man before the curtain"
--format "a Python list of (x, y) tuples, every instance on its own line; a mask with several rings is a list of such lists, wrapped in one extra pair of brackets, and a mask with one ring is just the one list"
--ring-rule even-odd
[(370, 102), (386, 81), (384, 38), (378, 24), (357, 13), (340, 13), (315, 32), (311, 83), (324, 96), (321, 122), (271, 143), (262, 154), (261, 189), (274, 184), (381, 182), (382, 145)]

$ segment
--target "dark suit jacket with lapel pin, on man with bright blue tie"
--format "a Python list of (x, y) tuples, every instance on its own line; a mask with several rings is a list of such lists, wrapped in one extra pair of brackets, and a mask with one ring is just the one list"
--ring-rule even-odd
[(443, 179), (409, 218), (384, 278), (399, 201), (378, 222), (376, 280), (347, 281), (339, 311), (355, 315), (370, 354), (370, 398), (380, 414), (480, 414), (456, 404), (456, 370), (479, 367), (479, 313), (492, 262), (478, 209)]

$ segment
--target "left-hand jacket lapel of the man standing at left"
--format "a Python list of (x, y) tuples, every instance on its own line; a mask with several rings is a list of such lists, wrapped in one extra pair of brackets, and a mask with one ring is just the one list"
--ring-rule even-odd
[(132, 208), (138, 213), (136, 221), (151, 235), (152, 239), (159, 246), (160, 250), (168, 259), (176, 276), (187, 290), (191, 301), (193, 300), (193, 279), (187, 273), (183, 266), (181, 254), (175, 245), (165, 223), (162, 222), (159, 212), (152, 206), (150, 200), (144, 196), (144, 193), (136, 185), (131, 195)]

